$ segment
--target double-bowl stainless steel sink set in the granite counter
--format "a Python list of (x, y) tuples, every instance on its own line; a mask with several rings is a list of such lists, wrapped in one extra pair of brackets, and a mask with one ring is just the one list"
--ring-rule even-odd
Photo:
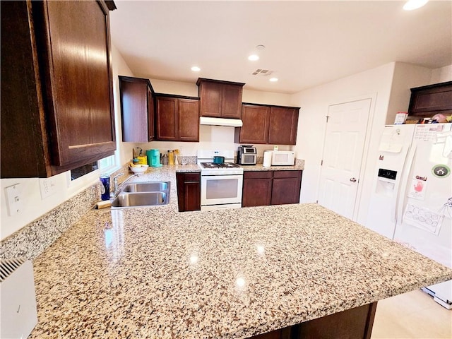
[(132, 182), (120, 187), (112, 208), (162, 206), (169, 203), (169, 182)]

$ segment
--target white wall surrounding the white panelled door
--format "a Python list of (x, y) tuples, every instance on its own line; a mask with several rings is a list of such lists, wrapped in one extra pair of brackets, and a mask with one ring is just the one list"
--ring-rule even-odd
[[(328, 106), (371, 97), (371, 120), (369, 121), (371, 131), (368, 133), (366, 143), (367, 149), (375, 150), (381, 129), (385, 124), (394, 68), (395, 63), (386, 64), (292, 95), (293, 105), (302, 107), (295, 146), (299, 158), (305, 160), (300, 202), (315, 202), (318, 198)], [(366, 156), (367, 152), (364, 150), (364, 157)], [(371, 172), (374, 162), (371, 161), (371, 155), (367, 159), (369, 161), (364, 161), (362, 169)], [(361, 184), (362, 191), (369, 191), (372, 184), (371, 178), (363, 179)], [(364, 199), (362, 203), (367, 202)], [(357, 221), (361, 222), (363, 218), (365, 219), (365, 216), (358, 218)]]

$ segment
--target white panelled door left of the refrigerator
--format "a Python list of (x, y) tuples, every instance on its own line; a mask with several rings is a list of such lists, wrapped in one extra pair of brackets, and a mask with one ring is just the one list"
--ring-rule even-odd
[(319, 204), (353, 218), (371, 99), (328, 107)]

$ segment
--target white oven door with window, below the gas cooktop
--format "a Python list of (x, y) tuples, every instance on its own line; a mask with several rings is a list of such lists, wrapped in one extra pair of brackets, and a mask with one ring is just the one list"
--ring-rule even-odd
[[(201, 173), (201, 206), (239, 204), (242, 207), (243, 175)], [(202, 209), (202, 208), (201, 208)]]

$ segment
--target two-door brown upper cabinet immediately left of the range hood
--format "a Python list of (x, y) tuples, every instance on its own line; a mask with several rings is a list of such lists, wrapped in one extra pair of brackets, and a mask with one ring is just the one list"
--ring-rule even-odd
[(155, 95), (156, 140), (199, 141), (199, 100), (179, 95)]

